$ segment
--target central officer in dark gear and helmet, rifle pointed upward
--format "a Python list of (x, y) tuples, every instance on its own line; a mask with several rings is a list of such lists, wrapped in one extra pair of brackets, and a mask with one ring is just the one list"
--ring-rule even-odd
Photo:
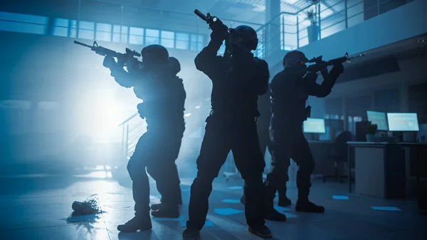
[[(245, 215), (248, 231), (263, 238), (272, 237), (263, 218), (263, 169), (256, 129), (258, 95), (268, 86), (268, 64), (253, 57), (258, 45), (255, 30), (249, 26), (228, 29), (216, 17), (195, 14), (212, 29), (211, 41), (194, 63), (212, 80), (211, 115), (206, 119), (206, 132), (197, 159), (197, 177), (191, 185), (189, 221), (183, 239), (199, 239), (209, 210), (212, 182), (218, 177), (228, 152), (233, 152), (236, 167), (247, 187)], [(226, 53), (217, 56), (223, 41)]]

